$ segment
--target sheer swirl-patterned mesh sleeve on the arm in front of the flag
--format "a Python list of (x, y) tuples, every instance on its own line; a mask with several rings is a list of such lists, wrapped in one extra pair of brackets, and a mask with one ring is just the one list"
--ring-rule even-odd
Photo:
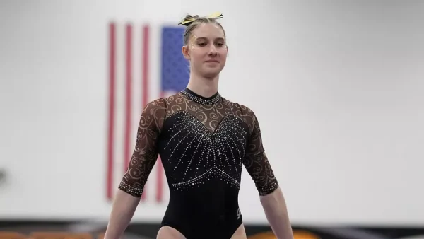
[(165, 117), (165, 100), (154, 100), (144, 108), (137, 129), (136, 146), (119, 189), (141, 197), (144, 185), (158, 159), (156, 141)]

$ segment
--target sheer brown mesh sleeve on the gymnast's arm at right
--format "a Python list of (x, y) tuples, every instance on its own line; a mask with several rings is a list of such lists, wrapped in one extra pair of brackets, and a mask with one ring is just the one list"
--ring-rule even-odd
[(249, 175), (252, 177), (257, 187), (259, 195), (270, 194), (278, 188), (278, 181), (273, 174), (271, 164), (266, 157), (264, 146), (262, 144), (261, 128), (259, 122), (252, 110), (244, 107), (245, 117), (250, 129), (249, 141), (243, 164)]

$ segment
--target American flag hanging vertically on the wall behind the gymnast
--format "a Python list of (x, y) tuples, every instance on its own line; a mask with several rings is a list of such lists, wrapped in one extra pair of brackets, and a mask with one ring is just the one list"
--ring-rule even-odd
[[(107, 98), (106, 197), (113, 199), (135, 146), (141, 111), (155, 98), (177, 93), (187, 86), (189, 64), (182, 56), (184, 28), (163, 26), (160, 50), (152, 49), (150, 25), (134, 23), (109, 24), (109, 93)], [(152, 69), (152, 54), (158, 54), (160, 69)], [(155, 64), (152, 64), (155, 65)], [(150, 78), (160, 71), (160, 80)], [(157, 95), (149, 90), (159, 84)], [(160, 158), (148, 178), (141, 202), (164, 202), (167, 182)]]

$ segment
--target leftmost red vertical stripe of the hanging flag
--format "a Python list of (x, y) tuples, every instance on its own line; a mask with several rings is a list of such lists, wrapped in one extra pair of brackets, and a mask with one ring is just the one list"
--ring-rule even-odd
[(109, 25), (109, 114), (107, 132), (107, 185), (106, 197), (112, 199), (113, 194), (113, 138), (114, 138), (114, 91), (115, 91), (115, 47), (116, 35), (115, 25)]

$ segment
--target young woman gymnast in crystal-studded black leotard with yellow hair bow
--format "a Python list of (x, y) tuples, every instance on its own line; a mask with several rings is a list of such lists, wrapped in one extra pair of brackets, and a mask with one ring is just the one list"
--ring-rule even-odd
[(228, 47), (222, 14), (186, 16), (182, 54), (190, 63), (187, 88), (148, 103), (134, 153), (114, 199), (106, 239), (131, 221), (160, 155), (170, 201), (158, 239), (245, 239), (238, 193), (243, 165), (259, 192), (277, 238), (291, 239), (285, 199), (261, 141), (254, 112), (218, 93)]

